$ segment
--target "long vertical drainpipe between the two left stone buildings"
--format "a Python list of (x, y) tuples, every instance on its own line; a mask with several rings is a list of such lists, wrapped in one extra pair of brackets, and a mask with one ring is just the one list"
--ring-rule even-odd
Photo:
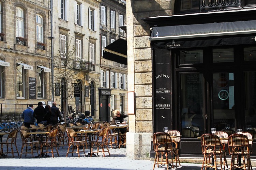
[(50, 15), (51, 15), (51, 36), (49, 37), (51, 39), (51, 94), (52, 94), (52, 101), (54, 102), (54, 65), (53, 65), (53, 0), (50, 1), (51, 3), (51, 11), (50, 11)]

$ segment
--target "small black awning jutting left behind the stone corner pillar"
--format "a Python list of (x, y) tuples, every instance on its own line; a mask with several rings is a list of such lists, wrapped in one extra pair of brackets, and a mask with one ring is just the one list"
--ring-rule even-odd
[(127, 41), (118, 39), (104, 48), (103, 58), (127, 65)]

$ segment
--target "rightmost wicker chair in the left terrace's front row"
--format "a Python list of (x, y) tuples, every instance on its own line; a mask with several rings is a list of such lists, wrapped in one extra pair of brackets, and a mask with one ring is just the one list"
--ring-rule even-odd
[[(110, 153), (109, 153), (109, 150), (108, 150), (108, 144), (107, 144), (107, 142), (108, 142), (108, 136), (107, 136), (108, 131), (109, 131), (108, 127), (101, 129), (101, 131), (99, 132), (99, 134), (97, 136), (97, 139), (90, 141), (91, 157), (92, 157), (92, 153), (97, 153), (97, 155), (98, 155), (99, 152), (102, 152), (104, 157), (105, 157), (105, 152), (108, 152), (108, 155), (110, 156)], [(93, 152), (93, 146), (94, 145), (97, 147), (97, 151)], [(101, 147), (102, 151), (100, 151), (100, 147)], [(107, 148), (107, 151), (104, 151), (105, 147)]]

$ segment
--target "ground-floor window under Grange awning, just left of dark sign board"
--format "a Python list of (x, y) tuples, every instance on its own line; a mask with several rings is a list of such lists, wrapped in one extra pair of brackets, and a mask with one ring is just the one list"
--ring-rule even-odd
[(16, 64), (16, 96), (25, 98), (25, 70), (24, 66), (17, 62)]

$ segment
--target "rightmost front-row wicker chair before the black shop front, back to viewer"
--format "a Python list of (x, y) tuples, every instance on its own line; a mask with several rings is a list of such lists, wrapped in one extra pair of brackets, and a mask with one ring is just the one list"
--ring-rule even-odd
[[(242, 168), (246, 170), (246, 165), (251, 165), (249, 149), (249, 139), (247, 136), (243, 134), (232, 134), (228, 137), (228, 150), (229, 155), (231, 155), (230, 169)], [(235, 164), (235, 158), (239, 155), (241, 155), (243, 159), (243, 164), (241, 166)]]

